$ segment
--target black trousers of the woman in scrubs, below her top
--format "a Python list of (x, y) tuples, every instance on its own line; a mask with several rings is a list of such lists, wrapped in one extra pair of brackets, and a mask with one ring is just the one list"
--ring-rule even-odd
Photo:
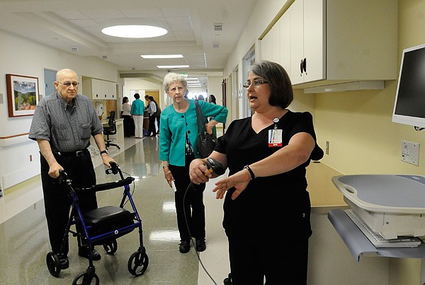
[[(285, 225), (276, 223), (276, 227)], [(293, 233), (228, 236), (233, 285), (307, 284), (308, 238)]]

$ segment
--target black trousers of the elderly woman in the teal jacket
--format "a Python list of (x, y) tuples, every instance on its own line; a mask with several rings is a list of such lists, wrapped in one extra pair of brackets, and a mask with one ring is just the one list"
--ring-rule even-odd
[(173, 173), (173, 177), (176, 180), (174, 183), (177, 191), (174, 193), (174, 198), (176, 202), (177, 226), (179, 227), (181, 240), (190, 240), (191, 236), (200, 240), (205, 238), (205, 205), (203, 204), (205, 183), (193, 185), (186, 193), (186, 189), (191, 184), (189, 165), (193, 158), (193, 156), (186, 156), (185, 166), (169, 165), (169, 170)]

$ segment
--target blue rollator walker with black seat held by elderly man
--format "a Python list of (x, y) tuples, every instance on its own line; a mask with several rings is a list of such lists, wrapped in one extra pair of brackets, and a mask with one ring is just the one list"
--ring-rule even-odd
[[(114, 182), (93, 185), (89, 188), (78, 189), (72, 187), (72, 181), (69, 179), (67, 173), (63, 170), (60, 172), (60, 182), (66, 183), (67, 190), (69, 190), (70, 197), (72, 197), (72, 206), (60, 252), (47, 253), (47, 268), (54, 277), (59, 277), (61, 270), (59, 256), (64, 252), (64, 242), (68, 239), (69, 233), (80, 238), (83, 245), (87, 245), (89, 248), (89, 267), (87, 267), (85, 272), (77, 275), (74, 281), (72, 281), (72, 284), (91, 284), (93, 279), (95, 284), (99, 284), (99, 278), (95, 273), (91, 253), (94, 245), (103, 245), (106, 252), (113, 255), (118, 248), (116, 239), (130, 233), (135, 228), (139, 228), (140, 247), (130, 256), (128, 260), (128, 271), (136, 277), (145, 273), (149, 264), (149, 258), (147, 257), (145, 246), (143, 246), (142, 221), (139, 214), (137, 214), (137, 209), (130, 193), (130, 184), (135, 178), (131, 176), (124, 178), (117, 163), (111, 163), (111, 169), (106, 170), (106, 174), (111, 173), (114, 175), (119, 173), (121, 179)], [(118, 187), (124, 187), (120, 207), (106, 206), (82, 213), (78, 201), (79, 191), (98, 192)], [(130, 201), (133, 212), (124, 209), (126, 199)], [(75, 225), (76, 231), (71, 231), (70, 228), (72, 225)]]

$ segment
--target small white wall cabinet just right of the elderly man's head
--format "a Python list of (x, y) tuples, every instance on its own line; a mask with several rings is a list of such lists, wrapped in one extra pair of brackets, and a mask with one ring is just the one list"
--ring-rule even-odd
[(115, 100), (116, 83), (96, 78), (83, 78), (83, 94), (93, 100)]

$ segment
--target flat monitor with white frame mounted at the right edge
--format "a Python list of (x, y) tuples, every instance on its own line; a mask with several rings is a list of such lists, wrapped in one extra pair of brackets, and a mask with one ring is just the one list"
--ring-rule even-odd
[(392, 122), (425, 127), (425, 44), (403, 50)]

